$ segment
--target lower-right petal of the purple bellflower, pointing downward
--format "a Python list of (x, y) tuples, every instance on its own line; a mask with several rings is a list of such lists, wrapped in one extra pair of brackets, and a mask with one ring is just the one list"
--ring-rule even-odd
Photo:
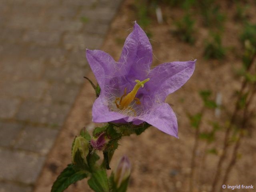
[(167, 103), (155, 104), (150, 113), (139, 118), (155, 126), (162, 132), (178, 138), (178, 123), (176, 115)]

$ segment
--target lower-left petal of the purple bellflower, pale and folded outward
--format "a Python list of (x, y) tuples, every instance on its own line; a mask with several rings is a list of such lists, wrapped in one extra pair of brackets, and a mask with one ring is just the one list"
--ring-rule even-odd
[(119, 120), (125, 118), (126, 116), (110, 111), (108, 109), (108, 103), (105, 99), (104, 94), (100, 94), (100, 96), (95, 100), (92, 106), (92, 121), (96, 123), (104, 123), (110, 122), (114, 120)]

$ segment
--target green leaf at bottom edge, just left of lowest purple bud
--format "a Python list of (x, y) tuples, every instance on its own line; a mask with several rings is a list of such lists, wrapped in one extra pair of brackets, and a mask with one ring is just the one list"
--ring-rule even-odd
[(108, 176), (106, 170), (96, 170), (88, 180), (88, 185), (95, 192), (109, 192)]

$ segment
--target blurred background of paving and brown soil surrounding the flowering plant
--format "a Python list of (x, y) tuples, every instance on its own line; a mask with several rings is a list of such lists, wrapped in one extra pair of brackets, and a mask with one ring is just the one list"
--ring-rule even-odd
[[(179, 139), (150, 127), (120, 142), (110, 166), (130, 158), (128, 191), (255, 186), (255, 10), (255, 0), (0, 0), (0, 192), (50, 191), (74, 136), (96, 126), (85, 49), (118, 60), (135, 20), (152, 66), (197, 62), (166, 101)], [(92, 190), (80, 181), (66, 191)]]

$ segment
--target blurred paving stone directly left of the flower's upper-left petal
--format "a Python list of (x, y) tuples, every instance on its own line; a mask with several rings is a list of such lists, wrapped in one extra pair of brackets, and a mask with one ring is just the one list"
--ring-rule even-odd
[(65, 64), (62, 66), (49, 66), (45, 71), (45, 78), (51, 81), (82, 84), (87, 68)]

